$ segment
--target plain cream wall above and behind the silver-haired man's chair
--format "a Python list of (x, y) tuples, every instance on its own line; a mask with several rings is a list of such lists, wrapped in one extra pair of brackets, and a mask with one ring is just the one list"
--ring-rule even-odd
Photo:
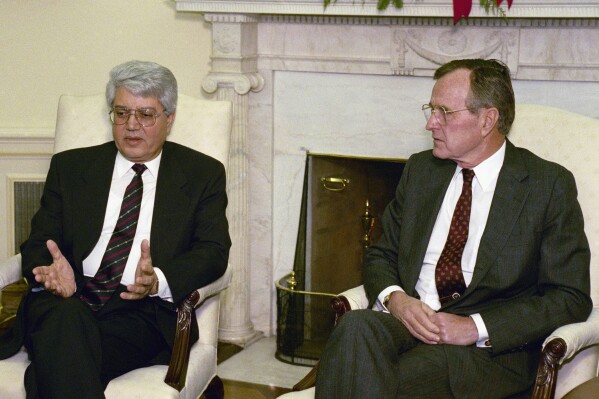
[(210, 25), (174, 0), (2, 0), (0, 134), (53, 128), (60, 94), (103, 92), (131, 59), (170, 68), (181, 93), (202, 96), (210, 51)]

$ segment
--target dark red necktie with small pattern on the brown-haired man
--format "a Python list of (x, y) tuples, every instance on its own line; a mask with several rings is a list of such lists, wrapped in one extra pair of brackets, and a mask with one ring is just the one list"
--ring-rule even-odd
[(459, 298), (466, 290), (462, 273), (462, 253), (468, 240), (474, 171), (462, 169), (462, 174), (464, 175), (462, 194), (453, 211), (447, 241), (435, 269), (435, 283), (442, 305)]

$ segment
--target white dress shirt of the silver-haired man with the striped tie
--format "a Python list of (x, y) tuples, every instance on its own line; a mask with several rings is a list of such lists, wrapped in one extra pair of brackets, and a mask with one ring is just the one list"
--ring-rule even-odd
[[(141, 242), (144, 239), (147, 239), (148, 242), (150, 241), (154, 199), (156, 197), (156, 181), (158, 179), (158, 168), (160, 167), (161, 158), (162, 153), (151, 161), (145, 163), (148, 169), (142, 174), (144, 189), (139, 220), (137, 222), (135, 237), (133, 238), (133, 246), (131, 247), (127, 265), (123, 271), (123, 277), (121, 279), (122, 285), (135, 284), (135, 270), (137, 269), (137, 263), (141, 257)], [(104, 256), (104, 252), (106, 252), (108, 241), (110, 241), (110, 237), (114, 232), (114, 227), (119, 217), (125, 190), (135, 175), (135, 172), (131, 169), (133, 164), (134, 162), (127, 160), (120, 152), (117, 152), (102, 232), (92, 252), (83, 260), (83, 274), (88, 277), (95, 276), (100, 268), (100, 262), (102, 262), (102, 257)], [(151, 244), (152, 243), (150, 242), (150, 246)], [(154, 271), (158, 276), (157, 296), (172, 302), (171, 290), (164, 273), (157, 267), (154, 267)]]

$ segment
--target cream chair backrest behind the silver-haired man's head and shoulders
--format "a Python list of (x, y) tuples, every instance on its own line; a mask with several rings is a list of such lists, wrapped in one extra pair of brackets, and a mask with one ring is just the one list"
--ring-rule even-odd
[[(56, 116), (54, 152), (111, 141), (112, 124), (108, 111), (103, 94), (61, 96)], [(177, 116), (167, 140), (210, 155), (227, 168), (231, 123), (230, 102), (180, 94)]]

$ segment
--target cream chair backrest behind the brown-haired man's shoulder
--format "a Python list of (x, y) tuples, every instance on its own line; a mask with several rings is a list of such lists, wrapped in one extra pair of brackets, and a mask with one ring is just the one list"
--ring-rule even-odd
[(574, 174), (591, 246), (591, 297), (599, 305), (599, 120), (563, 109), (520, 104), (508, 137), (515, 145)]

